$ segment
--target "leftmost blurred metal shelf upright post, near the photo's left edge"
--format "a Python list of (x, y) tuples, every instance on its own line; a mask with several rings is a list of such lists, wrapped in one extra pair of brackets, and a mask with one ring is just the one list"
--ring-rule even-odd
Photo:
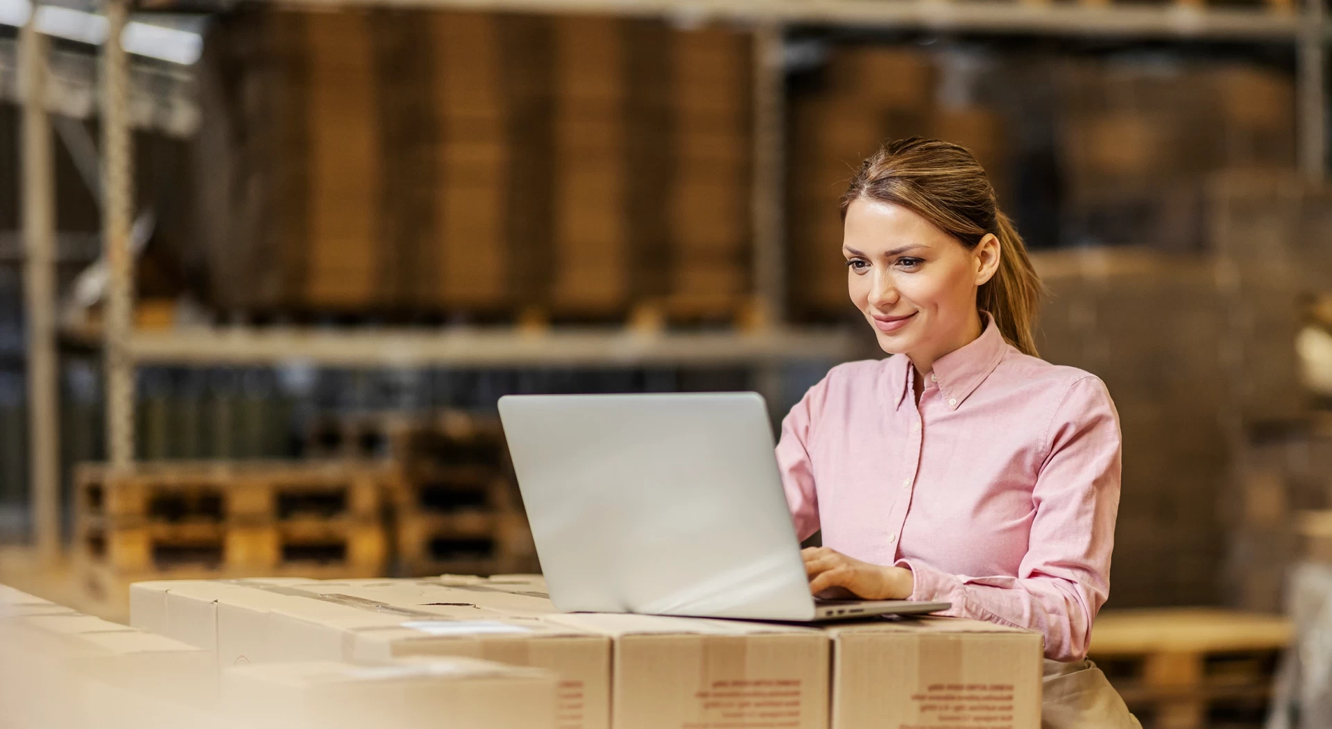
[(28, 474), (37, 558), (60, 557), (60, 389), (56, 360), (56, 189), (47, 115), (49, 45), (37, 5), (19, 36), (23, 72), (24, 332), (28, 351)]

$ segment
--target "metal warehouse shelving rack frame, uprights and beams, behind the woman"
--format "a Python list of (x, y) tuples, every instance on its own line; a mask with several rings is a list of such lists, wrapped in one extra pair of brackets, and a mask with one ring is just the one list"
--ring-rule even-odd
[[(1325, 175), (1325, 51), (1329, 28), (1323, 1), (1269, 0), (1261, 9), (1229, 9), (1179, 0), (1155, 7), (1107, 0), (1051, 4), (1043, 0), (290, 0), (296, 7), (393, 5), (546, 13), (669, 16), (683, 21), (731, 20), (754, 31), (755, 231), (753, 272), (761, 325), (734, 333), (666, 331), (356, 331), (281, 327), (184, 328), (141, 332), (132, 327), (132, 175), (129, 75), (120, 33), (131, 0), (105, 0), (103, 47), (103, 247), (108, 267), (100, 340), (107, 380), (107, 442), (113, 466), (133, 460), (135, 369), (141, 364), (269, 364), (298, 360), (341, 366), (424, 365), (625, 365), (746, 364), (773, 382), (774, 365), (856, 351), (843, 331), (785, 324), (783, 109), (785, 32), (794, 25), (920, 29), (988, 35), (1052, 35), (1180, 41), (1285, 43), (1297, 48), (1299, 165), (1311, 180)], [(145, 9), (180, 5), (149, 3)], [(189, 9), (226, 9), (190, 1)], [(32, 509), (37, 553), (60, 552), (57, 363), (55, 320), (55, 211), (51, 128), (44, 100), (47, 39), (28, 23), (20, 37), (24, 61), (24, 237), (28, 336)]]

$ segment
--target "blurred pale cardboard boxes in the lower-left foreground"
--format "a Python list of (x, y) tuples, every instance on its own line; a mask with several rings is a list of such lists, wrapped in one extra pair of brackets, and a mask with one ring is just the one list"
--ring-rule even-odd
[[(208, 616), (185, 633), (208, 640)], [(0, 586), (5, 726), (554, 729), (555, 674), (469, 658), (218, 666), (213, 650)]]

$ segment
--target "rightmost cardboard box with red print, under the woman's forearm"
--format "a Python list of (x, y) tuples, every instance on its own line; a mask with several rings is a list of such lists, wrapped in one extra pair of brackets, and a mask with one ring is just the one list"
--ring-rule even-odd
[(832, 641), (832, 729), (1039, 729), (1042, 636), (923, 617), (823, 629)]

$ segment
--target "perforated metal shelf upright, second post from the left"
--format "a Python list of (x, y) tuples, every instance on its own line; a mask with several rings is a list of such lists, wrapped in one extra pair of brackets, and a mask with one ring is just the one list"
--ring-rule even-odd
[(101, 67), (103, 164), (103, 256), (107, 291), (103, 303), (103, 356), (107, 369), (107, 460), (127, 468), (135, 458), (135, 363), (129, 349), (133, 333), (135, 280), (129, 253), (133, 217), (133, 159), (129, 128), (129, 64), (121, 33), (129, 0), (107, 0), (107, 43)]

